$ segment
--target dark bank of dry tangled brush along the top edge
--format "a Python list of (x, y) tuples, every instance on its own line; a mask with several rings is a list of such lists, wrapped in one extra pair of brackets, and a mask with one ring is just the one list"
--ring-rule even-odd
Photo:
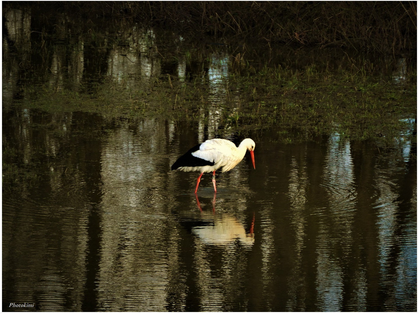
[(95, 23), (140, 23), (225, 41), (261, 39), (318, 47), (403, 54), (416, 50), (416, 1), (68, 1), (28, 2)]

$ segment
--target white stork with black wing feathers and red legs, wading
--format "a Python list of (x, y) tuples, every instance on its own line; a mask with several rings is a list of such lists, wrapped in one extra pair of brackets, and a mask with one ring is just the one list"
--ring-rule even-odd
[(253, 154), (254, 149), (255, 142), (253, 142), (250, 138), (244, 139), (238, 147), (236, 147), (234, 143), (229, 140), (214, 138), (192, 147), (183, 156), (179, 157), (175, 163), (173, 163), (171, 169), (201, 172), (197, 179), (195, 194), (197, 194), (202, 174), (204, 174), (204, 172), (212, 171), (214, 192), (217, 192), (217, 188), (215, 187), (215, 170), (221, 167), (222, 172), (233, 169), (243, 159), (246, 154), (246, 150), (250, 151), (253, 168), (256, 169), (255, 156)]

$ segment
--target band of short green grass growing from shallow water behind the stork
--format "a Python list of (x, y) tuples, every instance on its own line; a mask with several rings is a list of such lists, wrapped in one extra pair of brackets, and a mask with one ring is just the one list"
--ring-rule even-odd
[[(400, 88), (384, 78), (353, 75), (349, 84), (348, 73), (316, 73), (316, 78), (312, 74), (277, 70), (251, 78), (231, 75), (231, 91), (216, 104), (223, 112), (220, 124), (243, 129), (280, 126), (313, 135), (336, 130), (346, 137), (365, 140), (377, 134), (391, 137), (401, 132), (406, 123), (400, 120), (414, 117), (416, 112), (414, 85)], [(238, 94), (238, 98), (233, 99), (231, 93)], [(145, 91), (127, 90), (124, 85), (109, 82), (95, 96), (70, 91), (28, 92), (28, 99), (35, 99), (29, 101), (29, 106), (46, 112), (81, 110), (105, 116), (204, 122), (214, 109), (208, 98), (205, 86), (176, 78), (156, 78)]]

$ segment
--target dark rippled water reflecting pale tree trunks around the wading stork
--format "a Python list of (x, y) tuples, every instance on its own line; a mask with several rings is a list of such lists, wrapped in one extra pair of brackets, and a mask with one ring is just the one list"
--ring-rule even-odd
[(216, 195), (204, 174), (196, 198), (197, 174), (170, 171), (176, 158), (243, 139), (218, 124), (227, 53), (212, 56), (206, 121), (40, 110), (28, 86), (93, 95), (106, 80), (146, 90), (199, 71), (74, 37), (44, 59), (31, 12), (5, 17), (3, 311), (416, 311), (411, 131), (391, 148), (255, 132), (256, 170), (247, 154), (217, 174)]

